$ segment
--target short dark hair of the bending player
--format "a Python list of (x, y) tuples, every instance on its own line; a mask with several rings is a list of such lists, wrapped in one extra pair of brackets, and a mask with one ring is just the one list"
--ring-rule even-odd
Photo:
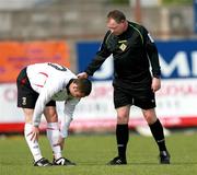
[(92, 82), (89, 79), (74, 79), (73, 83), (76, 83), (81, 93), (84, 93), (85, 96), (90, 95), (92, 91)]

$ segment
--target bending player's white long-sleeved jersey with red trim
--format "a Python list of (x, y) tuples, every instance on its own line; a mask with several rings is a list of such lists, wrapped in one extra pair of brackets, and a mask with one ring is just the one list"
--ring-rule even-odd
[(33, 122), (38, 126), (45, 105), (54, 101), (66, 101), (65, 114), (72, 118), (79, 98), (68, 94), (67, 84), (71, 79), (77, 79), (68, 68), (57, 63), (35, 63), (26, 70), (32, 89), (39, 94), (34, 109)]

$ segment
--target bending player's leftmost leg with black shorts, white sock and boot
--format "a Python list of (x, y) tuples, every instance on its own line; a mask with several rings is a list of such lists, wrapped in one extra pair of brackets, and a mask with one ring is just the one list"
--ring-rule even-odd
[(37, 140), (35, 141), (31, 140), (32, 118), (38, 94), (34, 92), (34, 90), (31, 88), (26, 74), (26, 68), (20, 72), (16, 80), (16, 85), (18, 85), (18, 107), (21, 107), (23, 109), (25, 116), (24, 137), (31, 150), (31, 153), (34, 158), (35, 161), (34, 165), (35, 166), (50, 165), (50, 163), (42, 156)]

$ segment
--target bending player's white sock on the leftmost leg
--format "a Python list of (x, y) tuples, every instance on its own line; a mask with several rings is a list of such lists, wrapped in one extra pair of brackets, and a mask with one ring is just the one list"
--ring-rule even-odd
[(25, 137), (25, 140), (26, 140), (28, 148), (32, 152), (32, 155), (34, 156), (35, 162), (37, 162), (43, 156), (40, 154), (38, 142), (37, 141), (31, 141), (31, 137), (32, 137), (31, 132), (32, 132), (32, 124), (25, 124), (24, 137)]

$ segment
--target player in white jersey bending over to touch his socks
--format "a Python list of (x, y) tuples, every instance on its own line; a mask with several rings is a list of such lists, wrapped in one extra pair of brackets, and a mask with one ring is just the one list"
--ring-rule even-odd
[[(91, 93), (88, 79), (78, 79), (68, 68), (57, 63), (35, 63), (24, 68), (16, 80), (18, 107), (25, 116), (24, 137), (34, 158), (34, 166), (76, 165), (63, 158), (65, 138), (72, 120), (76, 105)], [(58, 125), (56, 101), (65, 101), (65, 119)], [(54, 154), (50, 163), (43, 158), (38, 144), (42, 115), (47, 120), (47, 138)]]

